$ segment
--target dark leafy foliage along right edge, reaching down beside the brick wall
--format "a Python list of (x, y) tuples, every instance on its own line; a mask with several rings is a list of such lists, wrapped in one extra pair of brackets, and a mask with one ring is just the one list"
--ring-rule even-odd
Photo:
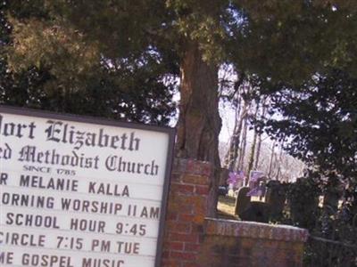
[[(305, 262), (310, 266), (353, 266), (357, 250), (357, 79), (329, 69), (301, 85), (272, 87), (268, 134), (287, 140), (286, 150), (310, 172), (287, 192), (285, 223), (309, 229)], [(324, 197), (322, 207), (317, 198)], [(314, 239), (317, 238), (317, 239)], [(321, 239), (322, 238), (322, 239)], [(335, 245), (334, 245), (335, 244)], [(353, 247), (354, 246), (354, 247)]]

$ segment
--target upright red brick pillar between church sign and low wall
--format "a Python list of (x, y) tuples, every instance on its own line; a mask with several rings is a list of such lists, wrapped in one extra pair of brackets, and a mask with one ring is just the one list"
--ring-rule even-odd
[(174, 161), (162, 249), (162, 267), (199, 266), (212, 165), (192, 159)]

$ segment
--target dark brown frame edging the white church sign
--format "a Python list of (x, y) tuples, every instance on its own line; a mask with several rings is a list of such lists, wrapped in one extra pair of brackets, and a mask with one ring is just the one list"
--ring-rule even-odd
[(173, 158), (174, 158), (173, 155), (174, 155), (174, 146), (175, 146), (175, 137), (176, 137), (175, 128), (169, 126), (145, 125), (137, 122), (118, 121), (105, 117), (93, 117), (93, 116), (76, 115), (76, 114), (69, 114), (69, 113), (57, 113), (54, 111), (48, 111), (42, 109), (12, 107), (8, 105), (0, 104), (0, 114), (1, 113), (8, 113), (12, 115), (27, 116), (27, 117), (59, 119), (59, 120), (66, 120), (70, 122), (77, 122), (77, 123), (106, 125), (106, 126), (122, 127), (122, 128), (168, 134), (169, 137), (168, 152), (166, 155), (166, 164), (165, 164), (166, 169), (164, 174), (164, 182), (162, 184), (163, 187), (162, 203), (161, 203), (161, 211), (160, 211), (158, 236), (157, 236), (156, 255), (154, 261), (155, 267), (161, 266), (164, 226), (165, 226), (165, 219), (166, 219), (168, 198), (169, 198), (169, 191), (170, 191), (171, 169), (172, 169)]

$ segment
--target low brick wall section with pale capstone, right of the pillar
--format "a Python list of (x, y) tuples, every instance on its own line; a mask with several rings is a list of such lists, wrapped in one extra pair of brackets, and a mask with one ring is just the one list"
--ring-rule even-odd
[[(214, 267), (302, 266), (308, 232), (288, 225), (206, 219), (201, 254)], [(203, 257), (203, 260), (207, 259)]]

